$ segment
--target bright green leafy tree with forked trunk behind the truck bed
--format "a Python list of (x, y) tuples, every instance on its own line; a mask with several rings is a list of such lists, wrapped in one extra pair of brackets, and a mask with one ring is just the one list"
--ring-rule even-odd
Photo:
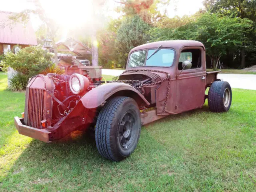
[(252, 28), (252, 21), (248, 19), (209, 13), (204, 14), (196, 23), (199, 26), (197, 39), (204, 43), (215, 69), (227, 50), (243, 47), (249, 41), (247, 34)]

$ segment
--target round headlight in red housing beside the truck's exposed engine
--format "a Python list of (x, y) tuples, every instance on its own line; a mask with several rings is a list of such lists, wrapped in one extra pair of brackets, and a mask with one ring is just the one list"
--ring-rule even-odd
[(72, 93), (74, 94), (79, 94), (81, 92), (84, 92), (88, 88), (89, 84), (90, 82), (88, 78), (86, 78), (83, 75), (75, 73), (70, 76), (69, 86)]

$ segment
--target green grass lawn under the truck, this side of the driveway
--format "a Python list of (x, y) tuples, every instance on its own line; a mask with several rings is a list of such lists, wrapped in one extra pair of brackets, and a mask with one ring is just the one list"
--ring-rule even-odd
[[(256, 91), (233, 89), (227, 113), (202, 109), (142, 127), (135, 152), (102, 158), (86, 135), (46, 144), (19, 135), (24, 92), (0, 76), (0, 191), (255, 191)], [(70, 136), (70, 138), (72, 138)]]

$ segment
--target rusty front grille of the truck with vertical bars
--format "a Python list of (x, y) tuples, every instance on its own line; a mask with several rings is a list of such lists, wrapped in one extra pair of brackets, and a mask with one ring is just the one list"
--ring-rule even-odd
[(27, 126), (40, 128), (44, 112), (44, 90), (38, 88), (27, 89), (29, 89), (28, 106), (24, 114), (24, 120)]

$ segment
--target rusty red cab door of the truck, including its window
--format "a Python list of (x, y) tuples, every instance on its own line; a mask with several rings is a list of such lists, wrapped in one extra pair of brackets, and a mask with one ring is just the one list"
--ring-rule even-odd
[[(204, 49), (186, 47), (180, 53), (176, 70), (176, 104), (175, 112), (180, 113), (204, 104), (206, 83), (206, 66)], [(182, 62), (190, 60), (192, 67), (182, 70)]]

